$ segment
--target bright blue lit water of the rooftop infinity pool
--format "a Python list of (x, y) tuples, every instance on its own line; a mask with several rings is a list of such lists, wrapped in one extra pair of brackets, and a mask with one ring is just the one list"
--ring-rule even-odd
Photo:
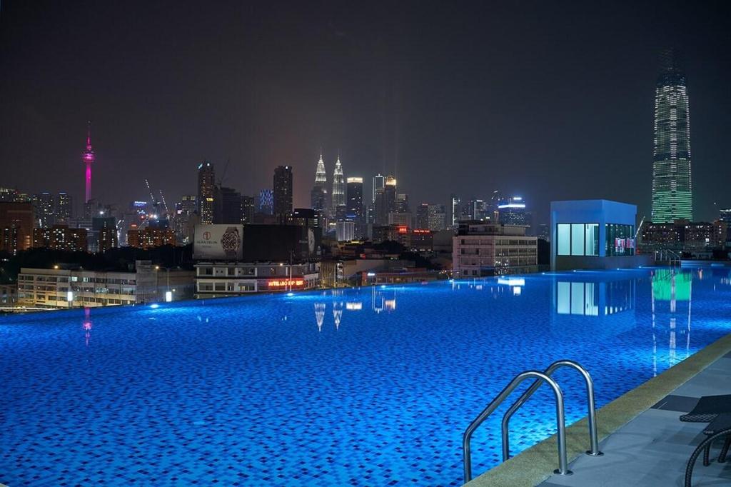
[[(602, 406), (729, 333), (730, 298), (725, 268), (637, 269), (3, 317), (0, 483), (460, 485), (515, 374), (578, 360)], [(554, 431), (544, 389), (514, 452)]]

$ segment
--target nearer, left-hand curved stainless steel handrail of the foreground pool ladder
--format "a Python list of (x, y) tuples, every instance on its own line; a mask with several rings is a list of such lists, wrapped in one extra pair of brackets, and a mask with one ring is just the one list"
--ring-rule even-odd
[(472, 457), (469, 445), (472, 434), (488, 418), (488, 416), (490, 416), (495, 411), (495, 409), (497, 409), (497, 407), (502, 404), (502, 402), (507, 399), (508, 396), (510, 396), (510, 393), (512, 393), (512, 391), (515, 390), (518, 385), (520, 385), (520, 382), (523, 382), (524, 380), (530, 378), (534, 378), (537, 381), (541, 382), (547, 382), (548, 385), (550, 385), (551, 389), (553, 389), (553, 396), (556, 397), (556, 427), (558, 429), (558, 469), (554, 470), (553, 472), (560, 475), (571, 475), (572, 472), (569, 470), (569, 462), (567, 461), (566, 456), (566, 421), (564, 419), (564, 393), (561, 392), (561, 388), (558, 387), (556, 381), (551, 379), (545, 373), (537, 370), (528, 370), (516, 375), (515, 378), (510, 381), (510, 384), (505, 386), (505, 388), (501, 390), (499, 395), (495, 399), (493, 399), (490, 404), (488, 404), (488, 407), (485, 407), (485, 409), (480, 412), (480, 415), (478, 415), (477, 418), (474, 419), (474, 421), (469, 423), (469, 426), (467, 426), (467, 429), (464, 431), (464, 435), (462, 437), (462, 455), (464, 461), (465, 483), (472, 480)]

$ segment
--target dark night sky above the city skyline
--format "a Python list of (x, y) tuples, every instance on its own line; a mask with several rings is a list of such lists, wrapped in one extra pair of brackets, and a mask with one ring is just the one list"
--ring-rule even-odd
[(681, 50), (697, 219), (731, 206), (731, 2), (27, 1), (0, 7), (0, 186), (170, 204), (210, 159), (253, 195), (292, 165), (309, 205), (393, 173), (413, 203), (605, 197), (649, 214), (659, 51)]

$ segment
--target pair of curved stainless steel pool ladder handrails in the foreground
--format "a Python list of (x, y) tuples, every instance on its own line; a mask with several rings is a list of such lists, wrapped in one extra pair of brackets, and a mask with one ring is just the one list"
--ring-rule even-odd
[(604, 453), (599, 451), (599, 439), (596, 434), (596, 405), (594, 404), (594, 381), (591, 380), (591, 375), (588, 371), (573, 360), (556, 360), (548, 366), (545, 371), (527, 370), (520, 372), (516, 375), (510, 384), (505, 386), (498, 396), (488, 404), (488, 407), (480, 412), (480, 415), (474, 419), (467, 429), (464, 431), (462, 437), (462, 453), (464, 461), (464, 481), (465, 483), (472, 480), (472, 457), (470, 453), (470, 439), (474, 431), (480, 427), (480, 425), (502, 404), (505, 399), (510, 396), (513, 390), (520, 385), (524, 380), (534, 379), (535, 382), (531, 385), (522, 396), (515, 401), (512, 406), (505, 412), (502, 419), (502, 453), (503, 461), (510, 458), (510, 439), (509, 439), (509, 423), (510, 418), (520, 409), (526, 401), (538, 390), (538, 388), (547, 383), (550, 388), (553, 389), (553, 396), (556, 399), (556, 427), (558, 429), (558, 469), (554, 470), (553, 473), (558, 475), (571, 475), (572, 472), (569, 470), (568, 459), (566, 456), (566, 420), (564, 417), (564, 393), (561, 392), (561, 388), (558, 387), (551, 374), (561, 367), (570, 367), (579, 371), (581, 376), (586, 382), (586, 399), (588, 403), (588, 426), (589, 426), (589, 450), (586, 451), (587, 455), (590, 456), (602, 456)]

